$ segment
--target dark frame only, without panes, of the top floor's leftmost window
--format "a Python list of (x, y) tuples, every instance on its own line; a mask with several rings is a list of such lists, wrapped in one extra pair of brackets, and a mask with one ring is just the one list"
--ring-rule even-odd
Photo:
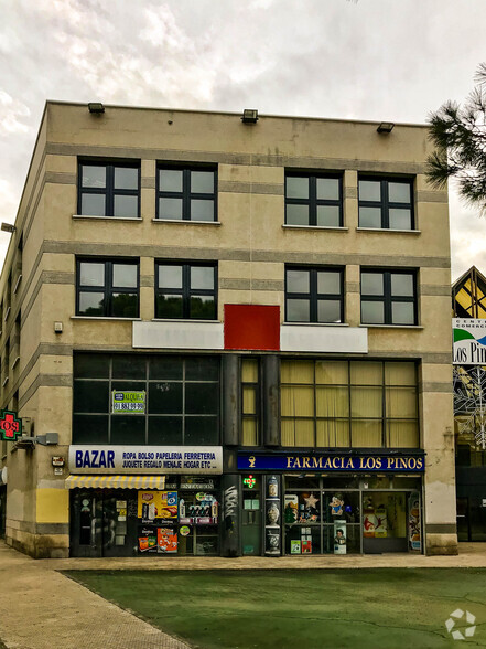
[[(106, 185), (104, 188), (83, 187), (83, 167), (105, 167)], [(138, 188), (136, 190), (115, 189), (115, 169), (137, 169)], [(77, 163), (77, 214), (79, 216), (96, 216), (97, 219), (140, 219), (140, 194), (141, 194), (141, 161), (140, 160), (107, 160), (104, 159), (78, 159)], [(105, 214), (83, 214), (83, 194), (99, 194), (105, 196)], [(114, 214), (115, 195), (137, 196), (137, 214), (133, 216), (116, 216)]]

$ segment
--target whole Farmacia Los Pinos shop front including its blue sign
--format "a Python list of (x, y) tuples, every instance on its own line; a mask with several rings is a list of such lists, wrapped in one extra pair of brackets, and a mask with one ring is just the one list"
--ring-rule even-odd
[(421, 553), (423, 467), (423, 454), (240, 453), (241, 553)]

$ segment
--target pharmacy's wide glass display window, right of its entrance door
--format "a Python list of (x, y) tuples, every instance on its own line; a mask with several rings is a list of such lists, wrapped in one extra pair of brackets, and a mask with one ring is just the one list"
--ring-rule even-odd
[(418, 477), (285, 476), (284, 485), (287, 554), (421, 550)]

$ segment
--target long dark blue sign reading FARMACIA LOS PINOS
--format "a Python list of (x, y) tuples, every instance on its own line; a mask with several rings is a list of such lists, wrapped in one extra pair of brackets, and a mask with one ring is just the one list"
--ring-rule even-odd
[(251, 455), (238, 454), (238, 469), (270, 471), (401, 471), (419, 474), (425, 458), (411, 455)]

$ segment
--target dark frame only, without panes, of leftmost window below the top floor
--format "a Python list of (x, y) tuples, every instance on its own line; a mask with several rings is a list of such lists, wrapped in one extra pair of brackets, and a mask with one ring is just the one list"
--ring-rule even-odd
[[(90, 286), (80, 284), (80, 265), (86, 263), (104, 264), (105, 280), (104, 285)], [(112, 286), (114, 265), (137, 266), (137, 287), (115, 287)], [(100, 316), (86, 316), (79, 312), (80, 292), (102, 292), (104, 294), (104, 313)], [(112, 315), (112, 294), (137, 294), (137, 315), (129, 318)], [(140, 259), (137, 257), (76, 257), (76, 316), (82, 318), (123, 318), (132, 320), (140, 317)]]

